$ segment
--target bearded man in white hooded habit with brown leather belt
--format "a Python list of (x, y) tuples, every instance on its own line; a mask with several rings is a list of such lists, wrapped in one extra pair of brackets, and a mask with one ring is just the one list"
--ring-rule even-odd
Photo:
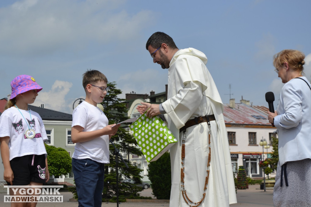
[(170, 207), (229, 206), (236, 203), (223, 104), (205, 64), (194, 49), (178, 49), (173, 39), (156, 32), (146, 43), (154, 63), (168, 68), (168, 95), (162, 104), (142, 103), (140, 113), (164, 114), (178, 139), (170, 148)]

